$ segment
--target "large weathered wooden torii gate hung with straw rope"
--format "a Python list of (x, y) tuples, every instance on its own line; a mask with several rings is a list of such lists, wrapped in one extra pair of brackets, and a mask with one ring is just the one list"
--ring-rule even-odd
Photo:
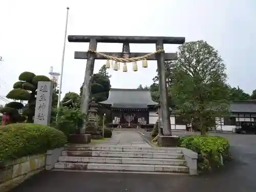
[[(116, 58), (136, 58), (150, 54), (147, 60), (157, 60), (157, 69), (160, 88), (160, 106), (164, 136), (172, 136), (170, 127), (170, 114), (167, 103), (167, 88), (165, 76), (165, 60), (177, 60), (177, 53), (165, 53), (163, 44), (183, 44), (185, 37), (161, 37), (161, 36), (87, 36), (69, 35), (69, 42), (89, 42), (88, 52), (75, 52), (75, 59), (87, 59), (86, 72), (82, 89), (81, 108), (83, 113), (88, 113), (89, 97), (91, 93), (91, 78), (93, 76), (95, 59), (109, 59), (106, 56)], [(98, 53), (98, 42), (112, 42), (123, 44), (121, 53), (104, 52)], [(155, 44), (155, 53), (131, 53), (130, 44)], [(142, 60), (142, 59), (140, 59)], [(127, 61), (132, 62), (132, 61)]]

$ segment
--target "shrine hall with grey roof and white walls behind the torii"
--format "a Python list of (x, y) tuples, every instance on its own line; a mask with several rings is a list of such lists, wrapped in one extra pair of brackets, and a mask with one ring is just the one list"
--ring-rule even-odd
[[(152, 100), (150, 90), (111, 89), (109, 98), (99, 102), (111, 111), (112, 126), (136, 128), (153, 127), (158, 120), (159, 103)], [(170, 115), (172, 129), (186, 129), (185, 125), (175, 125), (175, 114)]]

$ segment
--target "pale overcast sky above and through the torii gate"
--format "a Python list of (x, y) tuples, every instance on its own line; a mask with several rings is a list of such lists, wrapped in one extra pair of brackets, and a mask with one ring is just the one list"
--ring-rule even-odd
[[(2, 0), (0, 3), (0, 95), (6, 95), (18, 75), (30, 71), (48, 75), (60, 72), (66, 7), (68, 35), (184, 36), (186, 41), (206, 40), (227, 66), (231, 86), (251, 93), (256, 89), (256, 1), (254, 0)], [(62, 93), (77, 92), (83, 82), (86, 60), (74, 51), (87, 51), (87, 43), (66, 44)], [(153, 52), (155, 45), (131, 45), (132, 52)], [(98, 44), (100, 51), (121, 52), (120, 44)], [(176, 52), (177, 46), (165, 46)], [(104, 61), (96, 61), (98, 72)], [(139, 63), (140, 64), (140, 63)], [(112, 71), (112, 88), (150, 86), (156, 62), (137, 72)], [(63, 94), (63, 95), (64, 95)], [(63, 96), (62, 95), (62, 96)], [(0, 101), (0, 104), (3, 102)]]

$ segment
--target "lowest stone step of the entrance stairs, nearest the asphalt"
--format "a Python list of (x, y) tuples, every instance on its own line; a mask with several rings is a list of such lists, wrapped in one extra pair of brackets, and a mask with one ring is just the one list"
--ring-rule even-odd
[(152, 164), (112, 164), (112, 163), (78, 163), (78, 162), (57, 162), (56, 169), (75, 170), (112, 170), (118, 172), (175, 172), (188, 173), (188, 167), (181, 165), (152, 165)]

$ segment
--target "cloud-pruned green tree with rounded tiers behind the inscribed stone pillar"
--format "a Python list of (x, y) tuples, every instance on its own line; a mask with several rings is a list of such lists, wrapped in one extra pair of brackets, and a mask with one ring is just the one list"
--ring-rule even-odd
[(27, 117), (27, 122), (33, 122), (35, 114), (36, 90), (38, 81), (50, 81), (47, 76), (35, 75), (31, 72), (23, 72), (19, 75), (17, 82), (13, 84), (13, 90), (7, 94), (8, 99), (15, 100), (6, 104), (2, 112), (9, 113), (14, 121), (20, 121), (18, 110), (23, 108), (23, 104), (17, 100), (28, 101), (28, 108), (23, 111)]

